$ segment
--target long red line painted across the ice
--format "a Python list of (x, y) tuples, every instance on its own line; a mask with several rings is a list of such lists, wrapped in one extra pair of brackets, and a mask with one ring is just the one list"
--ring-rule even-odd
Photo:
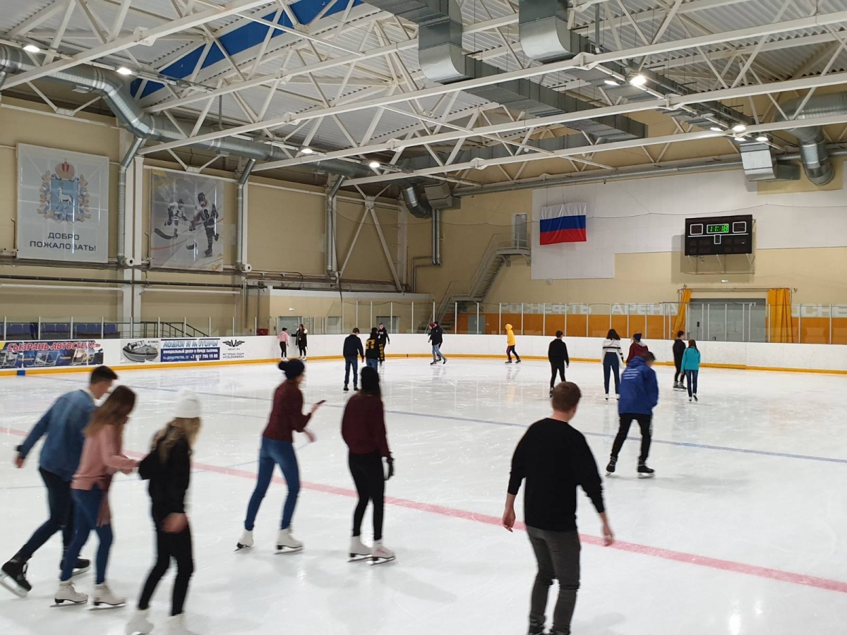
[[(25, 437), (26, 433), (22, 430), (14, 430), (5, 428), (5, 432), (14, 434), (15, 436)], [(127, 452), (130, 456), (144, 456), (139, 452)], [(224, 474), (226, 476), (235, 476), (241, 478), (256, 478), (256, 472), (249, 470), (241, 470), (237, 467), (220, 467), (210, 465), (208, 463), (193, 463), (196, 470), (202, 472), (213, 472), (215, 474)], [(285, 483), (285, 479), (274, 477), (274, 483)], [(335, 487), (335, 485), (324, 485), (323, 483), (300, 483), (303, 489), (311, 489), (315, 492), (323, 492), (324, 494), (335, 494), (338, 496), (346, 496), (347, 498), (356, 498), (357, 493), (352, 489)], [(406, 509), (415, 511), (426, 511), (430, 514), (438, 514), (439, 516), (448, 516), (450, 518), (462, 518), (463, 520), (481, 522), (485, 525), (493, 525), (499, 527), (501, 519), (498, 516), (489, 516), (488, 514), (480, 514), (475, 511), (457, 510), (452, 507), (443, 505), (433, 505), (431, 503), (422, 503), (418, 500), (398, 499), (393, 496), (386, 496), (385, 502), (388, 505), (396, 505), (405, 507)], [(515, 524), (516, 529), (526, 529), (523, 522)], [(590, 536), (584, 533), (579, 534), (579, 539), (583, 544), (593, 544), (602, 546), (603, 538)], [(792, 584), (800, 584), (804, 587), (822, 588), (828, 591), (838, 591), (839, 593), (847, 594), (847, 582), (839, 580), (829, 580), (826, 577), (808, 576), (805, 573), (794, 573), (782, 571), (780, 569), (769, 569), (766, 566), (747, 565), (744, 562), (734, 562), (733, 560), (720, 560), (719, 558), (710, 558), (706, 555), (687, 554), (684, 551), (673, 551), (673, 549), (662, 549), (661, 547), (650, 547), (645, 544), (628, 543), (623, 540), (616, 540), (615, 544), (609, 549), (618, 549), (627, 551), (631, 554), (650, 555), (654, 558), (662, 560), (673, 560), (675, 562), (683, 562), (688, 565), (706, 566), (710, 569), (719, 571), (741, 573), (745, 576), (764, 577), (769, 580), (778, 580)]]

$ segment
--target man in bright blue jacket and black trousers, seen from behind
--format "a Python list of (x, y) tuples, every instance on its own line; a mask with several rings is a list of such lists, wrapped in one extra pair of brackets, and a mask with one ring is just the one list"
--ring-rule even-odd
[(638, 460), (639, 478), (650, 478), (655, 470), (647, 467), (647, 456), (650, 454), (650, 440), (653, 437), (653, 408), (659, 402), (659, 383), (653, 363), (656, 356), (649, 351), (643, 356), (634, 357), (623, 375), (621, 375), (621, 399), (617, 402), (617, 413), (620, 416), (620, 427), (617, 437), (612, 444), (612, 457), (606, 466), (606, 476), (615, 471), (617, 455), (627, 440), (629, 426), (633, 419), (641, 428), (641, 456)]

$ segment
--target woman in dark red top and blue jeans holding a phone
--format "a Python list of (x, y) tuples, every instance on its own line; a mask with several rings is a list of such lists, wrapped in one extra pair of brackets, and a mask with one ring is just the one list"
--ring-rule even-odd
[(256, 489), (247, 505), (247, 516), (244, 520), (244, 533), (238, 542), (238, 549), (253, 546), (253, 524), (262, 505), (262, 499), (268, 491), (268, 485), (274, 476), (274, 467), (280, 466), (288, 484), (288, 497), (282, 509), (280, 533), (276, 539), (276, 549), (283, 551), (299, 551), (303, 544), (291, 536), (291, 516), (300, 494), (300, 468), (297, 466), (297, 456), (294, 453), (294, 432), (304, 433), (310, 442), (315, 435), (306, 429), (309, 419), (318, 411), (320, 403), (312, 406), (312, 410), (303, 414), (303, 394), (300, 383), (303, 380), (306, 367), (300, 360), (280, 362), (280, 370), (285, 373), (285, 381), (274, 392), (274, 407), (270, 411), (268, 426), (262, 433), (262, 447), (259, 450), (259, 473)]

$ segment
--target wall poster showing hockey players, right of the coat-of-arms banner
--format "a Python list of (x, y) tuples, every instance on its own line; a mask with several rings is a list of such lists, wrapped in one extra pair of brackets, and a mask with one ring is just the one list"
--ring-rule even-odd
[(224, 267), (230, 225), (224, 185), (197, 174), (153, 170), (151, 175), (150, 262), (153, 267)]

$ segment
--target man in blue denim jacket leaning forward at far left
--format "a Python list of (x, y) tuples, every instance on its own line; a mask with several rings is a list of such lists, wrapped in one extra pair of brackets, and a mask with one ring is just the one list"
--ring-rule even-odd
[[(42, 544), (46, 543), (59, 529), (63, 530), (64, 551), (73, 538), (73, 504), (70, 497), (70, 483), (74, 479), (76, 468), (80, 465), (84, 437), (82, 431), (88, 425), (95, 400), (106, 395), (118, 375), (107, 366), (98, 366), (91, 373), (86, 389), (74, 390), (56, 400), (44, 416), (32, 428), (23, 444), (17, 448), (16, 467), (24, 467), (26, 457), (38, 443), (38, 439), (47, 435), (42, 447), (40, 467), (44, 485), (47, 487), (47, 504), (50, 517), (32, 534), (29, 542), (21, 547), (12, 560), (3, 565), (0, 580), (8, 577), (12, 586), (3, 584), (14, 594), (24, 596), (32, 586), (26, 580), (26, 563)], [(88, 569), (88, 560), (77, 560), (75, 575)], [(62, 563), (59, 564), (59, 568)]]

